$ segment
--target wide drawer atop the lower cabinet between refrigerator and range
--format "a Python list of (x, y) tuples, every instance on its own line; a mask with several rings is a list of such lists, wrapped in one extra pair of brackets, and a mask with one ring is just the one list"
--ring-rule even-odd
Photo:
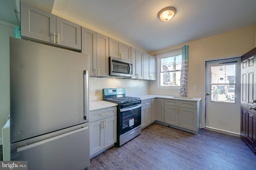
[(116, 107), (90, 111), (90, 122), (98, 121), (116, 115)]

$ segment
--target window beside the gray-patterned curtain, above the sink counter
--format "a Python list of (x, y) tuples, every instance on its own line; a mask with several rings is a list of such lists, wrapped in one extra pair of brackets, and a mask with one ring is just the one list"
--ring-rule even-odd
[(180, 87), (180, 75), (182, 66), (181, 50), (169, 53), (158, 58), (158, 88), (176, 89)]

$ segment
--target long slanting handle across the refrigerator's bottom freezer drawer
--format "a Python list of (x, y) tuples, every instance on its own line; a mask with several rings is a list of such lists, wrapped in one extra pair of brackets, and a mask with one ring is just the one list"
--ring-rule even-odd
[(47, 142), (50, 142), (50, 141), (52, 141), (52, 140), (56, 140), (56, 139), (58, 139), (58, 138), (63, 138), (63, 137), (68, 136), (68, 135), (70, 135), (70, 134), (74, 134), (74, 133), (77, 133), (77, 132), (80, 132), (80, 131), (86, 130), (86, 129), (88, 129), (88, 126), (82, 127), (82, 128), (80, 128), (80, 129), (77, 129), (77, 130), (74, 130), (74, 131), (71, 131), (71, 132), (67, 132), (67, 133), (64, 133), (64, 134), (61, 134), (61, 135), (58, 135), (58, 136), (54, 136), (54, 137), (52, 137), (52, 138), (48, 138), (48, 139), (42, 140), (42, 141), (40, 141), (40, 142), (36, 142), (36, 143), (33, 143), (33, 144), (29, 144), (29, 145), (27, 145), (27, 146), (22, 146), (22, 147), (17, 148), (17, 152), (21, 152), (21, 151), (23, 151), (23, 150), (27, 150), (27, 149), (33, 148), (33, 147), (35, 147), (35, 146), (39, 146), (39, 145), (41, 145), (41, 144), (45, 144), (45, 143), (47, 143)]

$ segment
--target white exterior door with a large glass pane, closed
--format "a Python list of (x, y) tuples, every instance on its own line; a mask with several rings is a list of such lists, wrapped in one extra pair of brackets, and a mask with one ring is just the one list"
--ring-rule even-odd
[(240, 134), (239, 61), (206, 62), (206, 128)]

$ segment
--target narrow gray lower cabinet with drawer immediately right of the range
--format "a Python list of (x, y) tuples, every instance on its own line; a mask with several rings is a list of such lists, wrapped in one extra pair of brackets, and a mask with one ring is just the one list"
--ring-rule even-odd
[(151, 120), (151, 99), (141, 102), (141, 128), (145, 128), (152, 123)]

